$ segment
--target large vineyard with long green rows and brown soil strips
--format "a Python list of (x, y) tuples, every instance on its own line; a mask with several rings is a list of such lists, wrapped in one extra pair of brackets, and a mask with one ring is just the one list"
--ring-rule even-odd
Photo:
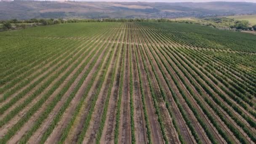
[(162, 22), (0, 32), (0, 143), (256, 143), (256, 35)]

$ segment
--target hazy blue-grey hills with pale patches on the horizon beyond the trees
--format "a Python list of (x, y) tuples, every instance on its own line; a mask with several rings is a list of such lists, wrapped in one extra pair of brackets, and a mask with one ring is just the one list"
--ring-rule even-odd
[(0, 19), (177, 18), (255, 14), (256, 3), (0, 1)]

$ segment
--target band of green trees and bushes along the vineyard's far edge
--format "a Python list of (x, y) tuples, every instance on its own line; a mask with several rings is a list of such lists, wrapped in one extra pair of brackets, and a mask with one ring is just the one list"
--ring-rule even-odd
[(20, 29), (26, 27), (36, 27), (40, 25), (53, 25), (64, 23), (78, 23), (78, 22), (176, 22), (176, 23), (189, 23), (189, 24), (201, 24), (214, 28), (225, 28), (231, 30), (251, 30), (256, 31), (256, 25), (250, 26), (248, 21), (239, 21), (230, 18), (209, 18), (197, 21), (190, 20), (170, 20), (170, 19), (29, 19), (29, 20), (2, 20), (0, 24), (3, 24), (2, 30), (8, 29)]

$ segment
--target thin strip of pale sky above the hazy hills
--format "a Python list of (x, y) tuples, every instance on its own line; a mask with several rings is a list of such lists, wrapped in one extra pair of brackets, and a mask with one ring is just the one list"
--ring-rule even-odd
[(75, 0), (75, 1), (118, 1), (118, 2), (211, 2), (211, 1), (228, 1), (228, 2), (252, 2), (256, 3), (256, 0)]

